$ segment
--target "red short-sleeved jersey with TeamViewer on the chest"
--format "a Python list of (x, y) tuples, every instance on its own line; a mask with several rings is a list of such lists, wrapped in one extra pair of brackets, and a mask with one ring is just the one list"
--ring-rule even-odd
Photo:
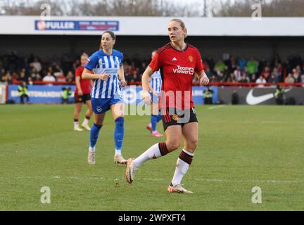
[(196, 47), (186, 43), (184, 51), (179, 51), (168, 43), (158, 49), (149, 67), (154, 71), (160, 69), (163, 80), (160, 108), (184, 110), (194, 107), (192, 79), (195, 72), (203, 70), (201, 54)]

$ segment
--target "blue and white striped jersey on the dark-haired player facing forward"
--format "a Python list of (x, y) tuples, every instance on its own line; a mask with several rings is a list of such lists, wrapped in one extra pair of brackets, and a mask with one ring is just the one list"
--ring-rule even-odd
[(89, 57), (89, 62), (84, 68), (92, 70), (94, 74), (106, 73), (110, 78), (105, 82), (102, 79), (95, 79), (91, 89), (91, 98), (112, 98), (113, 96), (122, 97), (122, 89), (118, 79), (118, 70), (122, 65), (123, 54), (113, 49), (109, 56), (102, 50), (96, 51)]

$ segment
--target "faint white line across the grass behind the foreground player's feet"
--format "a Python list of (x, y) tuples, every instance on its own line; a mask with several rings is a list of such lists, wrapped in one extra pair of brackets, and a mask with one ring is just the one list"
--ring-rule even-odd
[[(8, 179), (8, 177), (0, 176), (0, 179)], [(9, 178), (11, 179), (11, 178)], [(17, 176), (15, 179), (68, 179), (68, 180), (107, 180), (107, 181), (121, 181), (125, 179), (120, 178), (105, 178), (105, 177), (78, 177), (78, 176)], [(163, 178), (139, 178), (139, 181), (165, 181)], [(281, 181), (281, 180), (239, 180), (239, 179), (194, 179), (196, 181), (205, 182), (222, 182), (222, 183), (270, 183), (270, 184), (303, 184), (304, 180), (298, 181)]]

